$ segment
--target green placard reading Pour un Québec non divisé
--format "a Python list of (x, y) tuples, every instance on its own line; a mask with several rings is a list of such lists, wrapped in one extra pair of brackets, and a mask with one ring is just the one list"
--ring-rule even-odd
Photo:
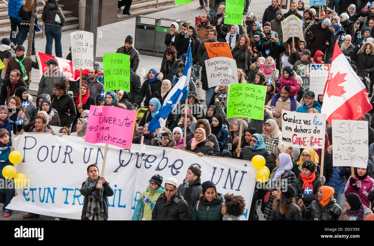
[(124, 90), (130, 92), (130, 56), (110, 53), (102, 56), (104, 68), (104, 90)]

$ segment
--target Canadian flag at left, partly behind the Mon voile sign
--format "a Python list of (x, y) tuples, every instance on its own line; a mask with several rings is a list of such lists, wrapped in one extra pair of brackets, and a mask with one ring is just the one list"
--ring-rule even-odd
[[(45, 53), (40, 53), (40, 52), (36, 52), (36, 58), (39, 64), (40, 78), (42, 78), (43, 73), (47, 71), (47, 64), (45, 64), (44, 62), (48, 61), (49, 59), (56, 59), (58, 67), (65, 74), (66, 78), (69, 81), (77, 81), (79, 79), (79, 69), (73, 68), (72, 61), (69, 61), (64, 58), (59, 58), (56, 56), (47, 55)], [(82, 75), (87, 75), (87, 74), (88, 74), (88, 69), (82, 70)], [(102, 75), (102, 73), (98, 73), (98, 75)]]

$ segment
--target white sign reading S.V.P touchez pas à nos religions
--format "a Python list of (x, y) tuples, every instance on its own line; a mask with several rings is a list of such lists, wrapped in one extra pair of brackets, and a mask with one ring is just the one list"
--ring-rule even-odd
[(332, 120), (332, 166), (366, 168), (368, 136), (367, 121)]

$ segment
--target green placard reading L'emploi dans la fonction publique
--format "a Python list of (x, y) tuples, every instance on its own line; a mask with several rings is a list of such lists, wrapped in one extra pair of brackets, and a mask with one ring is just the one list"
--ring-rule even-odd
[(266, 86), (257, 84), (230, 84), (227, 96), (227, 118), (244, 117), (262, 120)]

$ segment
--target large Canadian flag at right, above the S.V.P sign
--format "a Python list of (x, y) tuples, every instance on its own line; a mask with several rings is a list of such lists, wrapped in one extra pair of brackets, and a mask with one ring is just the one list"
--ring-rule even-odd
[(332, 120), (358, 120), (371, 108), (364, 84), (335, 43), (321, 113), (332, 125)]

